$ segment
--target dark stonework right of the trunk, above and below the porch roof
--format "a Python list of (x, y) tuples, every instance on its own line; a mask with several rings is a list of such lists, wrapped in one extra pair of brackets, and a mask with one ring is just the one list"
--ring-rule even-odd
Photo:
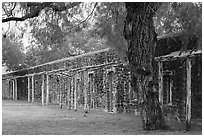
[[(162, 39), (158, 41), (155, 56), (170, 54), (175, 51), (182, 51), (184, 45), (179, 39), (180, 37)], [(187, 45), (188, 50), (196, 48), (196, 41), (190, 41)], [(191, 91), (192, 91), (192, 118), (202, 118), (202, 56), (196, 55), (191, 57), (192, 72), (191, 72)], [(158, 68), (157, 64), (155, 67)], [(174, 61), (163, 62), (164, 71), (172, 71), (174, 74), (170, 76), (173, 81), (172, 89), (172, 105), (166, 104), (167, 95), (164, 91), (164, 103), (166, 110), (174, 109), (178, 111), (179, 117), (185, 119), (186, 115), (186, 58), (180, 58)], [(158, 71), (158, 69), (155, 69)], [(158, 72), (156, 72), (158, 74)], [(164, 75), (164, 78), (168, 77)], [(157, 79), (156, 79), (157, 80)], [(164, 88), (167, 86), (167, 80), (164, 79)], [(171, 111), (171, 110), (170, 110)], [(169, 113), (169, 112), (167, 112)]]

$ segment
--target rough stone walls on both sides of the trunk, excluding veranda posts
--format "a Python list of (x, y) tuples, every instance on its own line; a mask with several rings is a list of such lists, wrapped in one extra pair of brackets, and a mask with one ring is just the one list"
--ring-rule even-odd
[[(180, 41), (173, 44), (165, 44), (168, 40), (160, 40), (157, 44), (155, 56), (169, 54), (180, 50)], [(180, 43), (180, 44), (179, 44)], [(159, 47), (159, 48), (158, 48)], [(192, 117), (202, 116), (202, 57), (192, 59)], [(108, 65), (110, 63), (115, 63)], [(103, 66), (100, 66), (104, 64)], [(155, 65), (155, 75), (158, 75), (158, 66)], [(96, 66), (96, 67), (94, 67)], [(180, 117), (185, 116), (186, 102), (186, 67), (185, 60), (164, 62), (164, 71), (173, 71), (172, 105), (176, 106)], [(86, 68), (90, 67), (90, 68)], [(88, 108), (103, 108), (109, 112), (136, 112), (136, 94), (130, 87), (130, 73), (128, 65), (122, 64), (113, 50), (103, 50), (97, 53), (89, 53), (82, 57), (71, 57), (67, 61), (40, 66), (28, 71), (20, 71), (19, 75), (49, 71), (54, 69), (67, 69), (66, 75), (51, 73), (49, 77), (50, 104), (62, 103), (68, 109), (74, 109), (74, 90), (77, 89), (77, 107), (85, 107), (85, 93), (87, 92)], [(111, 74), (112, 73), (112, 74)], [(17, 75), (17, 74), (15, 74)], [(68, 76), (69, 75), (69, 76)], [(92, 75), (92, 76), (90, 76)], [(77, 78), (76, 78), (77, 77)], [(35, 101), (41, 101), (41, 75), (35, 75)], [(92, 80), (91, 80), (92, 79)], [(89, 82), (91, 80), (91, 82)], [(112, 88), (111, 82), (112, 81)], [(23, 82), (24, 81), (24, 82)], [(155, 77), (157, 81), (157, 77)], [(18, 99), (27, 99), (27, 77), (18, 78)], [(164, 81), (164, 86), (165, 85)], [(75, 85), (76, 83), (76, 85)], [(157, 83), (157, 82), (156, 82)], [(92, 91), (90, 91), (92, 85)], [(2, 81), (3, 98), (12, 99), (12, 80)], [(111, 91), (112, 90), (112, 91)], [(45, 80), (46, 97), (46, 80)], [(91, 92), (93, 92), (91, 94)], [(110, 94), (111, 92), (111, 94)], [(112, 99), (110, 99), (112, 96)], [(164, 93), (164, 102), (167, 95)], [(60, 98), (61, 97), (61, 98)], [(112, 102), (112, 104), (110, 104)]]

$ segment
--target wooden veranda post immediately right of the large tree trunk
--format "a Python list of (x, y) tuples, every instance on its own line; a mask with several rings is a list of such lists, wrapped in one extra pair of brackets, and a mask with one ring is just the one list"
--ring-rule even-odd
[(163, 62), (159, 61), (159, 102), (163, 106)]

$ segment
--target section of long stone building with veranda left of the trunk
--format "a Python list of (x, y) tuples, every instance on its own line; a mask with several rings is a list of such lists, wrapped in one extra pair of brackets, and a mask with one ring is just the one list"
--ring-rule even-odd
[(79, 107), (100, 107), (109, 112), (134, 109), (128, 64), (110, 49), (12, 72), (4, 79), (7, 86), (3, 91), (7, 92), (3, 92), (3, 98), (60, 104), (75, 110)]

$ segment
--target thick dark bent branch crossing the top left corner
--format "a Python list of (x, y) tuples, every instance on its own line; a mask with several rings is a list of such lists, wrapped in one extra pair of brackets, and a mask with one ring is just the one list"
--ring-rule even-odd
[(2, 22), (4, 23), (4, 22), (8, 22), (8, 21), (24, 21), (24, 20), (29, 19), (29, 18), (38, 17), (39, 13), (46, 7), (51, 8), (54, 11), (61, 12), (61, 11), (73, 8), (77, 5), (79, 5), (80, 3), (81, 2), (73, 2), (73, 3), (70, 3), (69, 5), (63, 6), (63, 7), (58, 7), (56, 5), (53, 5), (52, 2), (28, 3), (27, 7), (32, 7), (32, 6), (36, 7), (35, 9), (33, 9), (33, 11), (31, 13), (26, 14), (23, 17), (8, 17), (6, 19), (2, 19)]

